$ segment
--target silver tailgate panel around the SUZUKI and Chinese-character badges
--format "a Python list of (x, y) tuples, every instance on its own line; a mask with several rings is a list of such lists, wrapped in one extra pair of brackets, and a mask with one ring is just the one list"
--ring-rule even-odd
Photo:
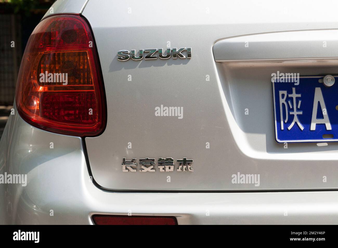
[[(165, 2), (148, 2), (156, 10), (166, 6)], [(171, 15), (152, 11), (147, 19), (143, 14), (149, 11), (148, 5), (140, 1), (103, 0), (100, 5), (89, 1), (82, 13), (93, 29), (107, 95), (105, 132), (86, 138), (96, 182), (113, 190), (337, 189), (337, 143), (321, 147), (289, 144), (284, 149), (284, 144), (275, 141), (271, 85), (271, 73), (277, 70), (337, 74), (337, 61), (221, 63), (215, 62), (213, 47), (219, 40), (249, 34), (337, 29), (338, 20), (333, 16), (316, 16), (338, 3), (284, 1), (288, 11), (273, 1), (243, 1), (245, 7), (232, 1), (172, 4), (180, 9)], [(128, 7), (132, 7), (131, 14)], [(121, 11), (111, 15), (111, 9)], [(194, 56), (116, 59), (116, 51), (122, 48), (165, 47), (168, 41), (171, 47), (192, 47)], [(243, 43), (239, 56), (245, 49)], [(127, 80), (128, 75), (132, 81)], [(206, 81), (207, 75), (210, 81)], [(183, 107), (183, 119), (155, 116), (155, 107), (162, 104)], [(246, 108), (249, 115), (244, 114)], [(128, 142), (132, 149), (127, 148)], [(210, 149), (206, 149), (206, 142), (210, 142)], [(194, 159), (194, 172), (122, 172), (123, 158), (143, 157), (189, 157)], [(260, 174), (260, 186), (232, 184), (232, 174), (237, 172)], [(171, 183), (166, 181), (168, 175)], [(322, 181), (324, 175), (330, 178), (327, 183)]]

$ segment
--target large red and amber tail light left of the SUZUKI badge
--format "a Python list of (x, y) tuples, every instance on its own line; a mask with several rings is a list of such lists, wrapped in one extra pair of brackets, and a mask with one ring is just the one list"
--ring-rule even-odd
[(34, 29), (20, 66), (16, 105), (30, 125), (50, 132), (102, 132), (103, 81), (93, 36), (83, 18), (51, 16)]

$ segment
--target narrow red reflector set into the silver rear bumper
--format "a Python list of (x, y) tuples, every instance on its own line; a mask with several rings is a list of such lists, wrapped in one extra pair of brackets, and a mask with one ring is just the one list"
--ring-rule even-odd
[(177, 225), (172, 216), (93, 215), (96, 225)]

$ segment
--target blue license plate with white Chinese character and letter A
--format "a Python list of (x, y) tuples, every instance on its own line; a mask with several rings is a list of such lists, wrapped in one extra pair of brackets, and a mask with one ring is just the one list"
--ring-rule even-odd
[[(338, 141), (338, 77), (328, 87), (323, 77), (274, 79), (276, 141)], [(280, 82), (288, 81), (288, 82)]]

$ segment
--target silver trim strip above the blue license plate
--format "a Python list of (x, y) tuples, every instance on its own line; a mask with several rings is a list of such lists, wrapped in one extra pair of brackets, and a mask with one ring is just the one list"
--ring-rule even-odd
[[(323, 47), (323, 42), (327, 43)], [(248, 47), (243, 47), (247, 43)], [(338, 30), (276, 32), (227, 38), (215, 43), (215, 61), (338, 58)]]

